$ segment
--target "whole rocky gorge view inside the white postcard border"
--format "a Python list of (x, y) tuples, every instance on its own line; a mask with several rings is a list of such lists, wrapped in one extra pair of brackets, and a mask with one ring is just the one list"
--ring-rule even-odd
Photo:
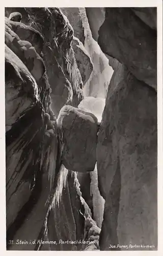
[(156, 8), (5, 8), (7, 250), (157, 250)]

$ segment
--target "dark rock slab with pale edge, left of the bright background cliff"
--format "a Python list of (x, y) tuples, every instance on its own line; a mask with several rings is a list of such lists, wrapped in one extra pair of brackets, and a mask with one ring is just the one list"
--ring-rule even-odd
[(85, 85), (93, 71), (91, 57), (89, 56), (89, 53), (86, 51), (82, 42), (80, 42), (77, 37), (73, 37), (72, 48), (75, 53), (77, 67), (82, 76), (83, 85)]

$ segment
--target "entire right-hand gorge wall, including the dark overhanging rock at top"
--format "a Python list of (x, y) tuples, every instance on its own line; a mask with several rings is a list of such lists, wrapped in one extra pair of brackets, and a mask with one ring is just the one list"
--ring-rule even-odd
[(98, 184), (105, 199), (101, 250), (157, 249), (155, 20), (155, 8), (105, 8), (98, 31), (114, 69), (97, 144)]

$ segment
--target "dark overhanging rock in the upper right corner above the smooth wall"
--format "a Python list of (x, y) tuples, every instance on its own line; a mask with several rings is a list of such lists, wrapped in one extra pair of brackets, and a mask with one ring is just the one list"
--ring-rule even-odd
[(102, 51), (124, 63), (135, 77), (157, 90), (156, 31), (130, 8), (105, 10), (105, 20), (98, 32)]

